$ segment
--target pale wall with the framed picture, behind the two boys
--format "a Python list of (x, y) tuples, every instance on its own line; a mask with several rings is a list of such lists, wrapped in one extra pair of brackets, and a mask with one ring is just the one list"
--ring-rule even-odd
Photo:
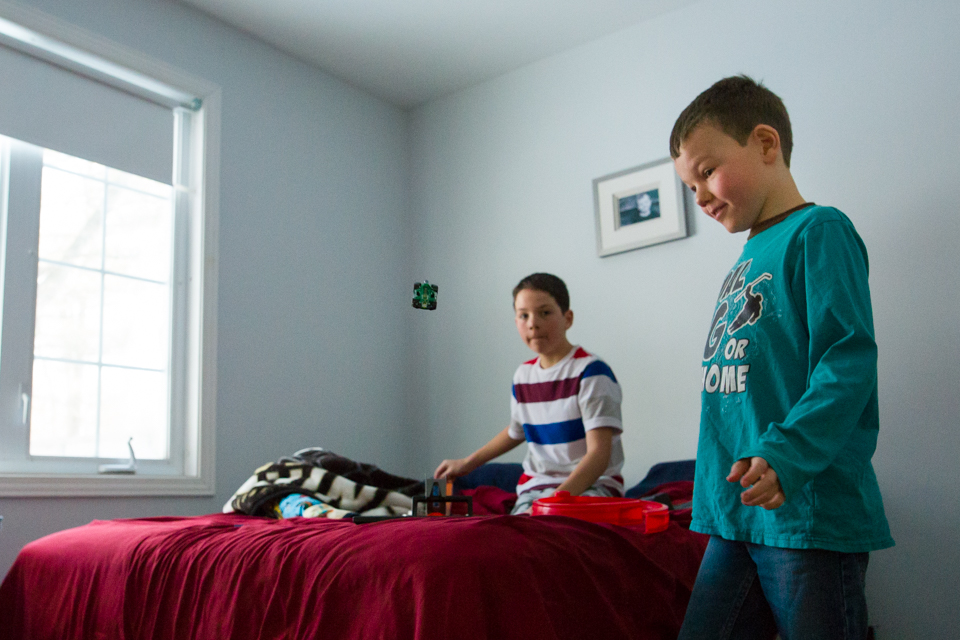
[(510, 291), (543, 270), (571, 289), (570, 337), (624, 388), (628, 481), (694, 457), (702, 346), (745, 237), (691, 211), (691, 237), (600, 259), (591, 181), (667, 156), (682, 108), (742, 72), (790, 110), (801, 193), (844, 210), (870, 252), (874, 464), (897, 540), (871, 558), (872, 623), (885, 639), (956, 637), (955, 2), (705, 0), (415, 111), (415, 268), (440, 285), (438, 310), (413, 327), (421, 447), (435, 464), (506, 423), (510, 376), (529, 353)]

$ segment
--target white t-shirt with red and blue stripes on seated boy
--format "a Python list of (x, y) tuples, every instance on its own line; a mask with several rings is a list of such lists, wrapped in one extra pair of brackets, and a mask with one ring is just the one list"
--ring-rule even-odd
[(540, 359), (513, 374), (509, 435), (527, 441), (517, 493), (556, 487), (587, 453), (587, 431), (614, 429), (610, 465), (595, 484), (623, 495), (620, 385), (603, 360), (574, 347), (549, 369)]

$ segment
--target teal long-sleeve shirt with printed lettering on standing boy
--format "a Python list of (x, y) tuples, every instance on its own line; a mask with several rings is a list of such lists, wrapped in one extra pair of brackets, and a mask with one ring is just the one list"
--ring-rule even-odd
[[(866, 248), (810, 205), (753, 235), (721, 288), (703, 354), (691, 528), (860, 552), (893, 545), (871, 464), (879, 429)], [(726, 477), (759, 456), (786, 501), (747, 507)]]

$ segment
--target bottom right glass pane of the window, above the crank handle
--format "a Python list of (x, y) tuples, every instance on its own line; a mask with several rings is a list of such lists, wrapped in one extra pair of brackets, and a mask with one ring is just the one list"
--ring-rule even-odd
[(104, 367), (101, 384), (100, 456), (127, 458), (132, 437), (138, 459), (166, 458), (166, 374)]

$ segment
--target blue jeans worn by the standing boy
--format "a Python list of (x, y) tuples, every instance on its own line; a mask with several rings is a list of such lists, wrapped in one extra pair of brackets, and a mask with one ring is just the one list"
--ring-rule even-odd
[(711, 536), (680, 640), (864, 640), (868, 559)]

